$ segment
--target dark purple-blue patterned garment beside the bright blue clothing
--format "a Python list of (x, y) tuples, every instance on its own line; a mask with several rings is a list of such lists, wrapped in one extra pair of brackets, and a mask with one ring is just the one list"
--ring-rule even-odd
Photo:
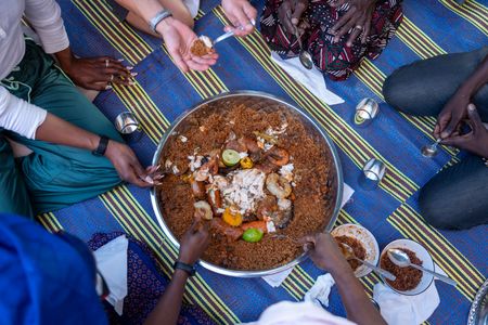
[[(88, 242), (91, 250), (97, 250), (106, 243), (123, 235), (121, 232), (110, 234), (94, 234)], [(156, 264), (156, 259), (142, 242), (127, 235), (129, 247), (127, 249), (127, 297), (124, 299), (124, 313), (118, 316), (112, 306), (105, 303), (111, 324), (142, 324), (151, 311), (156, 307), (163, 296), (169, 280)], [(198, 307), (183, 302), (178, 324), (213, 325), (214, 322)]]

